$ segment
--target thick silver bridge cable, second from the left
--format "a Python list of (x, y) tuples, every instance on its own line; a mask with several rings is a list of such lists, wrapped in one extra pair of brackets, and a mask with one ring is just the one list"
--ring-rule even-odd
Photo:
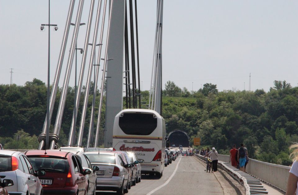
[[(83, 6), (84, 6), (84, 0), (79, 1), (79, 6), (78, 6), (78, 12), (77, 16), (75, 19), (75, 30), (72, 36), (72, 41), (70, 45), (70, 53), (68, 56), (67, 60), (67, 66), (66, 66), (66, 71), (65, 71), (65, 77), (63, 81), (63, 88), (61, 92), (61, 97), (60, 97), (60, 102), (58, 106), (58, 112), (56, 116), (56, 122), (54, 125), (54, 134), (59, 136), (60, 133), (60, 128), (61, 128), (61, 122), (62, 122), (62, 116), (63, 116), (63, 111), (64, 111), (64, 106), (65, 106), (65, 100), (66, 100), (66, 95), (67, 95), (67, 89), (68, 89), (68, 84), (69, 84), (69, 79), (70, 79), (70, 73), (71, 73), (71, 67), (72, 63), (74, 60), (74, 54), (75, 54), (75, 46), (78, 38), (78, 33), (79, 33), (79, 27), (80, 27), (80, 22), (81, 22), (81, 17), (82, 17), (82, 11), (83, 11)], [(53, 150), (55, 148), (55, 141), (51, 141), (50, 149)]]

